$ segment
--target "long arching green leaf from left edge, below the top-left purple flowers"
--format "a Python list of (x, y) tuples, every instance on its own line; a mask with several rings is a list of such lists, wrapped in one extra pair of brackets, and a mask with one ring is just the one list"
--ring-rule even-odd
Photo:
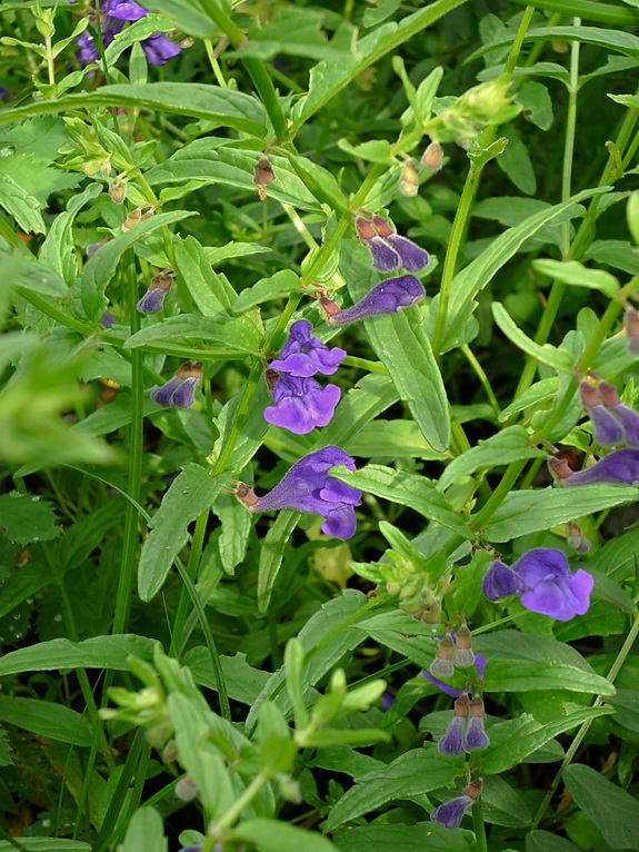
[(257, 98), (232, 89), (194, 82), (149, 82), (101, 86), (91, 92), (40, 100), (0, 112), (0, 125), (31, 116), (67, 112), (90, 107), (136, 107), (178, 116), (190, 116), (266, 137), (266, 113)]

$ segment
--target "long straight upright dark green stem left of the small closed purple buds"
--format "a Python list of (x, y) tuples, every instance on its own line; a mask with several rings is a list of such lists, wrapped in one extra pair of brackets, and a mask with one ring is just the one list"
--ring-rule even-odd
[[(129, 321), (131, 335), (140, 330), (140, 315), (136, 310), (138, 293), (136, 287), (136, 267), (131, 262), (127, 270)], [(142, 354), (131, 351), (131, 425), (129, 429), (129, 478), (127, 492), (132, 501), (140, 502), (142, 481)], [(122, 633), (129, 620), (131, 587), (138, 551), (138, 511), (133, 503), (127, 504), (124, 535), (122, 542), (122, 562), (113, 614), (113, 633)]]

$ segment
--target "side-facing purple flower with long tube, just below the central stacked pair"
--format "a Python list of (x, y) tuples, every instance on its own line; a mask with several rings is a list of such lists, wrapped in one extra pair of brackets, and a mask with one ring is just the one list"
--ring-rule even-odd
[(238, 499), (250, 512), (292, 508), (326, 518), (322, 532), (336, 538), (350, 538), (356, 529), (355, 506), (361, 492), (329, 475), (335, 465), (355, 470), (355, 462), (339, 447), (325, 447), (300, 458), (276, 487), (263, 497), (240, 483)]

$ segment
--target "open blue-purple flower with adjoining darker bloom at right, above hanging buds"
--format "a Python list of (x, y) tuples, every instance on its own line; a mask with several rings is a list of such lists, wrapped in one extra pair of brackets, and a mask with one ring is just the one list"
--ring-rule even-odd
[(511, 568), (502, 562), (493, 562), (483, 577), (482, 591), (489, 601), (520, 594), (527, 610), (568, 622), (588, 612), (593, 585), (588, 572), (580, 568), (571, 573), (561, 551), (536, 547), (525, 553)]

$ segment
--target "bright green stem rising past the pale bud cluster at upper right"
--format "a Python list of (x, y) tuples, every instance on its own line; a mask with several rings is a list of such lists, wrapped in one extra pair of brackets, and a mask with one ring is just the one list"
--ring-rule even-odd
[[(519, 57), (519, 53), (521, 51), (523, 37), (526, 36), (526, 31), (530, 24), (530, 19), (532, 18), (533, 11), (535, 11), (535, 7), (532, 6), (528, 6), (526, 8), (526, 12), (521, 19), (521, 22), (515, 36), (515, 40), (511, 44), (508, 59), (506, 60), (503, 77), (506, 78), (508, 83), (510, 83), (510, 80), (512, 79), (512, 72), (515, 71), (515, 67), (517, 65), (517, 58)], [(488, 148), (495, 140), (496, 136), (497, 136), (496, 127), (486, 128), (486, 130), (481, 135), (482, 148)], [(455, 278), (455, 270), (457, 268), (459, 249), (461, 247), (461, 242), (463, 240), (467, 226), (470, 220), (470, 212), (472, 209), (472, 205), (475, 202), (477, 190), (479, 188), (479, 180), (481, 178), (483, 167), (485, 167), (485, 164), (475, 164), (475, 162), (470, 164), (470, 168), (468, 170), (468, 175), (463, 184), (463, 189), (461, 190), (461, 198), (459, 199), (459, 206), (457, 208), (457, 212), (455, 214), (455, 220), (452, 222), (452, 229), (450, 231), (448, 248), (447, 248), (446, 257), (443, 260), (443, 269), (441, 273), (441, 285), (440, 285), (440, 291), (439, 291), (439, 307), (437, 311), (437, 319), (435, 323), (435, 331), (432, 335), (432, 351), (435, 353), (436, 357), (439, 356), (441, 346), (443, 344), (446, 325), (448, 320), (450, 294), (452, 289), (452, 279)]]

